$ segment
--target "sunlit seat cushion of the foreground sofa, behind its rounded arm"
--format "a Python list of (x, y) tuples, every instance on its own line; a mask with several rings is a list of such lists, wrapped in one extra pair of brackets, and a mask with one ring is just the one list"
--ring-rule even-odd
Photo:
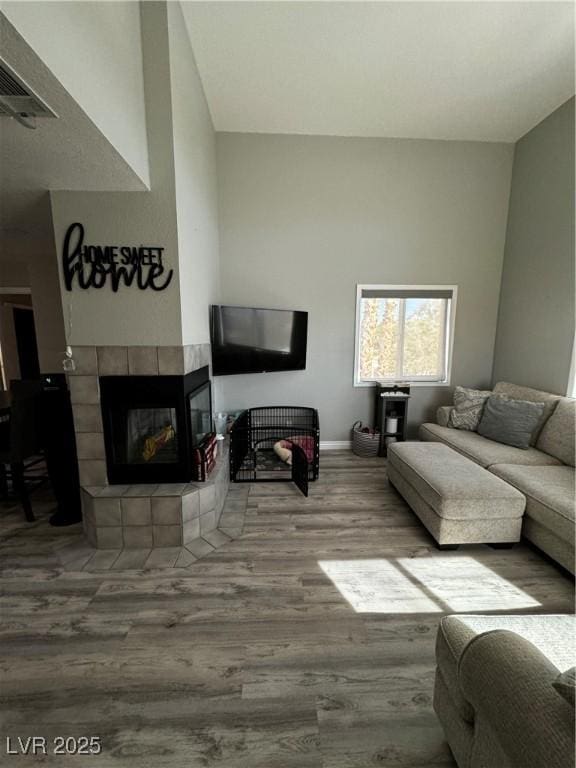
[(445, 616), (436, 637), (436, 661), (454, 704), (469, 723), (474, 711), (460, 691), (458, 664), (471, 640), (494, 629), (508, 629), (529, 640), (561, 672), (574, 665), (574, 616)]

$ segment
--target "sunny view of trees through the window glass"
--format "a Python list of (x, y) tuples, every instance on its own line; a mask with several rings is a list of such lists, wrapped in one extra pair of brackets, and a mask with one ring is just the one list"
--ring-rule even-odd
[(360, 379), (442, 379), (446, 299), (363, 298)]

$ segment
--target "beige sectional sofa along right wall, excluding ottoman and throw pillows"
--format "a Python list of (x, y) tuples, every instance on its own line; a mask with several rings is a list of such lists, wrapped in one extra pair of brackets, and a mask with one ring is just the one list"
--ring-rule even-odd
[(494, 392), (545, 404), (530, 448), (448, 427), (450, 407), (439, 409), (437, 424), (422, 424), (420, 440), (444, 443), (524, 494), (522, 535), (574, 573), (576, 400), (508, 382)]

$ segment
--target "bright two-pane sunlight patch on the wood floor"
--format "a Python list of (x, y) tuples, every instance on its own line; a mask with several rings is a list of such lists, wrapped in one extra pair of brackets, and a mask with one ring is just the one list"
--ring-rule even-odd
[(540, 603), (473, 557), (319, 560), (356, 613), (466, 613)]

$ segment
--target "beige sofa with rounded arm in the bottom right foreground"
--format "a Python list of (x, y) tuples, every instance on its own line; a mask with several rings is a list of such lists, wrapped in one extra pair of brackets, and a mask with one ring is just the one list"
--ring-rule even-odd
[(573, 616), (446, 616), (434, 710), (460, 768), (574, 768)]

